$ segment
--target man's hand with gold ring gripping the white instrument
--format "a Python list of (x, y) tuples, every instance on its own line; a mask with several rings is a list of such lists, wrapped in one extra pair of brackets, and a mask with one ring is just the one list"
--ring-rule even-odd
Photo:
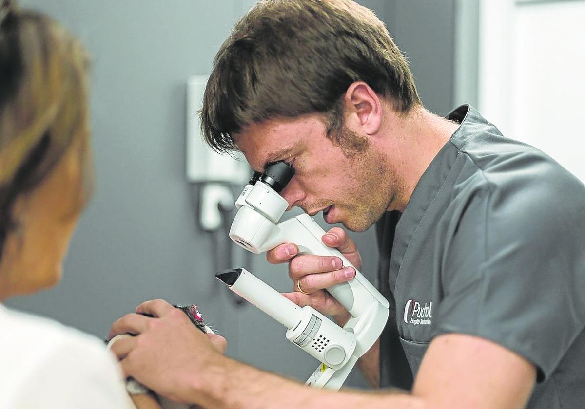
[[(345, 230), (333, 227), (322, 240), (325, 245), (337, 248), (357, 269), (362, 268), (362, 258), (355, 242)], [(354, 278), (355, 269), (343, 267), (339, 257), (297, 254), (298, 248), (292, 243), (281, 244), (266, 253), (271, 264), (288, 262), (288, 276), (294, 283), (294, 292), (283, 295), (298, 306), (311, 306), (344, 325), (349, 313), (324, 289)]]

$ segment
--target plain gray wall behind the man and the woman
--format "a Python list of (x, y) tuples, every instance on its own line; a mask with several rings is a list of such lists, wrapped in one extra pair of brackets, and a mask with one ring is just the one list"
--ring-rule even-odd
[[(430, 109), (453, 103), (453, 0), (361, 1), (376, 9), (408, 53)], [(212, 236), (195, 223), (185, 180), (185, 81), (207, 74), (233, 22), (252, 0), (21, 0), (75, 33), (92, 55), (91, 125), (96, 189), (71, 242), (63, 281), (10, 306), (105, 337), (113, 320), (146, 299), (197, 303), (228, 338), (228, 354), (304, 380), (316, 361), (284, 328), (236, 307), (214, 279)], [(373, 232), (354, 234), (373, 277)], [(285, 266), (254, 256), (254, 271), (290, 290)], [(267, 353), (269, 352), (269, 353)], [(364, 386), (359, 375), (349, 384)]]

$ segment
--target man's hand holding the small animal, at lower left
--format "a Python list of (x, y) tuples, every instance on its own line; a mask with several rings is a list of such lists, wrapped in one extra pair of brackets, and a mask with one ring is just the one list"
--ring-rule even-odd
[(136, 308), (136, 314), (119, 318), (110, 338), (125, 333), (136, 337), (112, 345), (124, 376), (133, 376), (157, 394), (185, 403), (192, 403), (187, 396), (193, 396), (197, 377), (227, 346), (225, 338), (204, 334), (183, 311), (164, 300), (146, 301)]

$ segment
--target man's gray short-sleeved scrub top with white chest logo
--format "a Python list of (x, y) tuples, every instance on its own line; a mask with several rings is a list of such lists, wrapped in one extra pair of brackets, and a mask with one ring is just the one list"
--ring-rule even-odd
[(376, 226), (381, 386), (410, 389), (433, 337), (457, 332), (536, 366), (528, 408), (585, 408), (583, 183), (469, 105), (448, 118), (459, 129), (404, 213)]

